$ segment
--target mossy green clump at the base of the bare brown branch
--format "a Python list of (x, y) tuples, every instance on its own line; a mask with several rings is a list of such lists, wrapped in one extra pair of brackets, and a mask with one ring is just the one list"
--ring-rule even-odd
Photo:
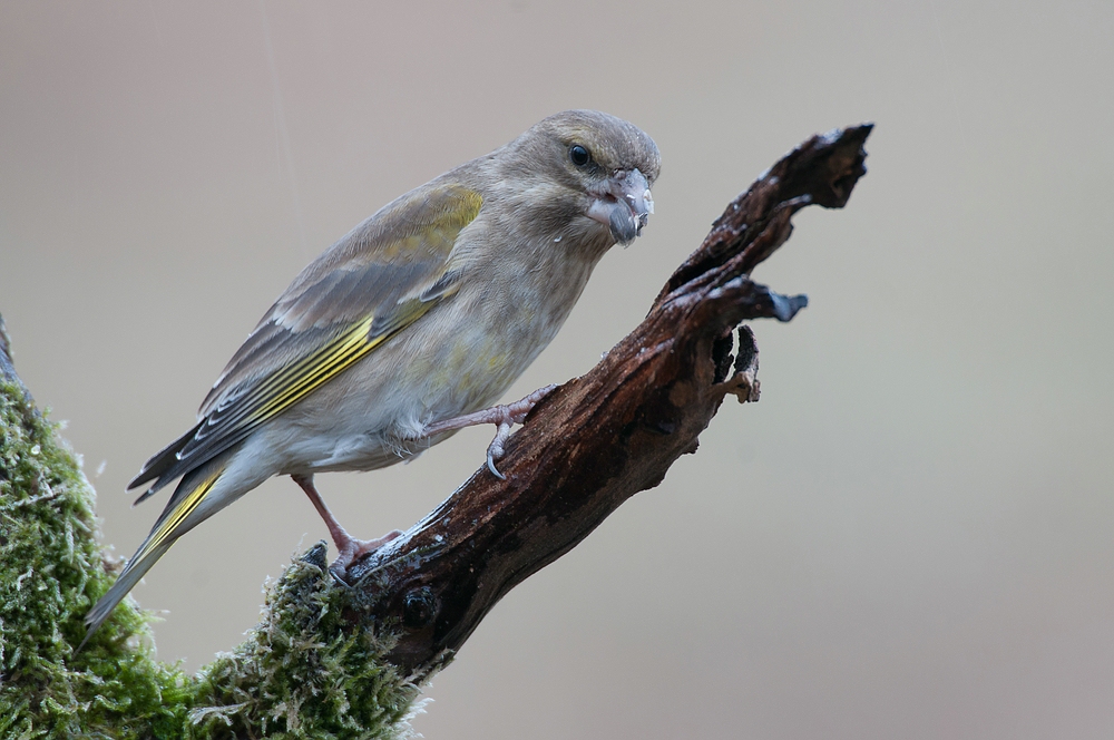
[(289, 566), (247, 642), (202, 671), (204, 705), (193, 719), (206, 737), (258, 728), (281, 738), (371, 739), (408, 730), (418, 688), (382, 660), (393, 641), (346, 626), (345, 590), (324, 561), (321, 543)]

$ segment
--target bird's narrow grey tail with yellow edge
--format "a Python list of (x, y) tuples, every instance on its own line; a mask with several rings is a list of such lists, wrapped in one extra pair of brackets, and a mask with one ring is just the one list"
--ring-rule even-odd
[(150, 566), (166, 551), (170, 549), (170, 545), (178, 537), (197, 524), (198, 519), (190, 520), (189, 515), (205, 500), (205, 497), (213, 489), (213, 486), (216, 485), (216, 481), (224, 474), (226, 467), (227, 460), (223, 459), (193, 473), (187, 473), (182, 478), (166, 508), (163, 509), (163, 514), (158, 517), (158, 522), (155, 523), (150, 534), (147, 535), (147, 539), (139, 545), (139, 549), (128, 561), (128, 564), (124, 567), (119, 577), (116, 578), (113, 587), (108, 590), (108, 593), (101, 596), (100, 601), (85, 615), (85, 623), (88, 625), (89, 631), (86, 633), (85, 640), (81, 641), (78, 650), (105, 623), (113, 613), (113, 610), (116, 608), (116, 605), (124, 601), (124, 597), (139, 582), (139, 578), (150, 569)]

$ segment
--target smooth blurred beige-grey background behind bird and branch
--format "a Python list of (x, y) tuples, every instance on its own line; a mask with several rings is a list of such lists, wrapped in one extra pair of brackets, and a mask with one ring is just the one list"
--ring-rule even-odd
[[(784, 150), (874, 120), (849, 207), (756, 275), (812, 301), (756, 327), (762, 402), (505, 598), (417, 728), (1108, 738), (1112, 28), (1098, 1), (3, 2), (0, 311), (129, 555), (165, 498), (126, 480), (395, 195), (567, 107), (657, 140), (657, 214), (518, 397), (592, 367)], [(488, 436), (321, 488), (407, 527)], [(190, 534), (135, 592), (159, 654), (231, 648), (324, 534), (289, 480)]]

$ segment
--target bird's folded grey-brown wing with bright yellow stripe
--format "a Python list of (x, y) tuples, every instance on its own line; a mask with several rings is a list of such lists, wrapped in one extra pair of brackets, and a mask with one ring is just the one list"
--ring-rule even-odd
[(461, 185), (422, 187), (317, 257), (228, 362), (197, 426), (152, 457), (128, 488), (154, 480), (144, 500), (212, 460), (456, 292), (450, 254), (481, 203)]

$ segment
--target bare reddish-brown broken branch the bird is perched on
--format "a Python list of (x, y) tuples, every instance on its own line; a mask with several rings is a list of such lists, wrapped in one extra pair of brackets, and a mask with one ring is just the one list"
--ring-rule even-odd
[(623, 502), (696, 449), (727, 393), (758, 399), (758, 350), (741, 321), (807, 304), (749, 279), (807, 205), (842, 207), (866, 173), (871, 126), (815, 136), (731, 203), (649, 314), (587, 374), (547, 397), (500, 461), (410, 532), (349, 568), (353, 620), (399, 631), (390, 660), (437, 670), (499, 598), (560, 557)]

